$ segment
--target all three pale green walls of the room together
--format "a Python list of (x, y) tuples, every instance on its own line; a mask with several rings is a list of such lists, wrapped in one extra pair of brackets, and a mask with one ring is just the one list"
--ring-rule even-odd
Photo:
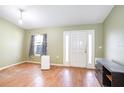
[[(124, 64), (124, 6), (114, 6), (103, 24), (77, 25), (55, 28), (23, 30), (0, 18), (0, 67), (22, 60), (40, 61), (29, 58), (30, 36), (48, 34), (48, 54), (52, 63), (63, 62), (63, 32), (69, 30), (95, 30), (95, 57), (105, 57)], [(104, 46), (99, 49), (99, 46)], [(104, 55), (103, 55), (104, 52)], [(57, 58), (59, 56), (59, 58)]]

